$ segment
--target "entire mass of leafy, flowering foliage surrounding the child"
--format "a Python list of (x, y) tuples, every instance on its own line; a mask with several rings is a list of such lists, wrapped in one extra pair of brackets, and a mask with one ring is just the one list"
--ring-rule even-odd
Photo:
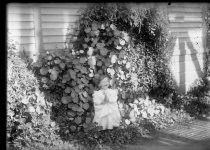
[[(8, 47), (11, 143), (20, 148), (34, 144), (40, 149), (64, 149), (73, 147), (62, 141), (77, 139), (92, 149), (101, 143), (131, 143), (147, 131), (191, 119), (184, 109), (193, 103), (174, 94), (168, 67), (172, 38), (164, 12), (90, 6), (69, 37), (67, 50), (42, 54), (30, 66), (33, 72), (11, 51), (14, 45)], [(92, 93), (103, 74), (112, 78), (122, 102), (121, 126), (110, 131), (99, 131), (92, 122)]]

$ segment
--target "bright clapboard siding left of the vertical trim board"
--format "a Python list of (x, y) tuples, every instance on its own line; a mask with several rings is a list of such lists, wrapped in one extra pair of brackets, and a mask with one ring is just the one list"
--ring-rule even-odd
[(17, 43), (17, 50), (30, 53), (36, 50), (34, 29), (33, 4), (9, 4), (7, 6), (8, 38)]

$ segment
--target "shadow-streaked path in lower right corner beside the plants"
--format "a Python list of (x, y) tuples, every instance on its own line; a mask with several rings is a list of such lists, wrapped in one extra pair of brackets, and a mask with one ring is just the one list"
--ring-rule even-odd
[(210, 120), (176, 125), (126, 145), (126, 150), (210, 150)]

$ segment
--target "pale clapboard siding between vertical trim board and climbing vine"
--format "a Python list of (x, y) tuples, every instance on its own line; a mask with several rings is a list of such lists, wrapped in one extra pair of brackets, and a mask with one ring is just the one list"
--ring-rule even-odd
[(41, 28), (43, 49), (52, 51), (66, 48), (67, 34), (73, 34), (82, 8), (88, 4), (42, 4)]

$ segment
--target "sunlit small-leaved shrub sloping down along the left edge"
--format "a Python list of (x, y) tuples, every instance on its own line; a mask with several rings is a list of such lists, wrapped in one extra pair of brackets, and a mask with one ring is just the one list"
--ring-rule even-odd
[(9, 42), (7, 142), (10, 147), (58, 149), (64, 146), (56, 134), (59, 128), (51, 121), (50, 114), (51, 103), (45, 100), (44, 93), (39, 90), (38, 80), (17, 54), (15, 45)]

